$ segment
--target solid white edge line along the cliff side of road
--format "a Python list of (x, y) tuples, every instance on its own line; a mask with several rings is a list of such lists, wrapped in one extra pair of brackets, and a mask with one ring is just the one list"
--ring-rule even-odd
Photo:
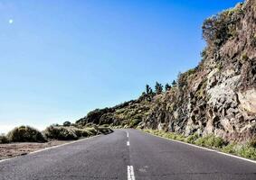
[[(147, 134), (150, 134), (150, 133), (148, 133), (148, 132), (146, 132), (146, 133), (147, 133)], [(150, 135), (156, 136), (155, 134), (150, 134)], [(167, 139), (167, 138), (161, 137), (161, 136), (156, 136), (156, 137), (157, 137), (157, 138), (162, 138), (162, 139)], [(213, 152), (216, 152), (216, 153), (218, 153), (218, 154), (222, 154), (222, 155), (225, 155), (225, 156), (228, 156), (228, 157), (239, 158), (239, 159), (242, 159), (242, 160), (245, 160), (245, 161), (248, 161), (248, 162), (251, 162), (251, 163), (256, 164), (256, 161), (255, 161), (255, 160), (251, 160), (251, 159), (249, 159), (249, 158), (238, 157), (238, 156), (235, 156), (235, 155), (232, 155), (232, 154), (224, 153), (224, 152), (221, 152), (221, 151), (218, 151), (218, 150), (214, 150), (214, 149), (211, 149), (211, 148), (200, 147), (200, 146), (197, 146), (197, 145), (194, 145), (194, 144), (186, 143), (186, 142), (179, 141), (179, 140), (175, 140), (175, 139), (168, 139), (168, 140), (172, 140), (172, 141), (175, 141), (175, 142), (179, 142), (179, 143), (182, 143), (182, 144), (185, 144), (185, 145), (189, 145), (189, 146), (192, 146), (192, 147), (195, 147), (195, 148), (203, 148), (204, 150), (213, 151)]]

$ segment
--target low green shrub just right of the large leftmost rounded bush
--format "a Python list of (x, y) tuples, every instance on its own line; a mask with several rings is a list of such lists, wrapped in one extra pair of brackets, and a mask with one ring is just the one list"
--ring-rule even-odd
[(71, 140), (79, 138), (76, 135), (75, 130), (65, 127), (49, 126), (43, 131), (43, 133), (48, 139)]

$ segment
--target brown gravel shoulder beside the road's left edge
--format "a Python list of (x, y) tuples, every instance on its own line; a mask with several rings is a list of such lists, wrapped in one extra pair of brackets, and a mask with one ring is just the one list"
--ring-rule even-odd
[(35, 150), (58, 146), (71, 140), (52, 140), (45, 143), (23, 142), (23, 143), (9, 143), (0, 144), (0, 160), (5, 158), (23, 156)]

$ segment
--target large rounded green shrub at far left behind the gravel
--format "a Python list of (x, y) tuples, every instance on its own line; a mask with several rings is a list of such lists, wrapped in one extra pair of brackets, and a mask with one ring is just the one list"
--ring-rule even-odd
[(20, 126), (14, 128), (7, 134), (10, 142), (45, 142), (46, 139), (39, 130), (35, 130), (29, 126)]

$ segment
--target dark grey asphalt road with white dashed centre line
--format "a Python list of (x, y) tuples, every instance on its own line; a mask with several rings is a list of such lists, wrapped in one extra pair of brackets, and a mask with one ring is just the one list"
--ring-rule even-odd
[(256, 179), (256, 164), (161, 139), (115, 130), (0, 162), (0, 179)]

